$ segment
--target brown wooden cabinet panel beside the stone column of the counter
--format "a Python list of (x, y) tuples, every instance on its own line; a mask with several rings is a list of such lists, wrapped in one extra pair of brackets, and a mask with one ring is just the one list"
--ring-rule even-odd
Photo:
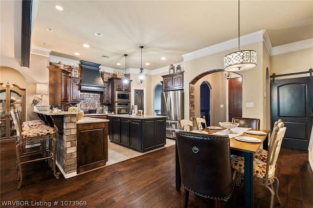
[(77, 173), (105, 166), (108, 161), (108, 122), (77, 124)]

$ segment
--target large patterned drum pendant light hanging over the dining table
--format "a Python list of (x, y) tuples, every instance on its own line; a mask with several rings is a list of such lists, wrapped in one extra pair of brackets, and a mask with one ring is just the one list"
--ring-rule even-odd
[(242, 71), (256, 66), (256, 52), (240, 50), (240, 3), (238, 0), (238, 51), (224, 57), (225, 71)]

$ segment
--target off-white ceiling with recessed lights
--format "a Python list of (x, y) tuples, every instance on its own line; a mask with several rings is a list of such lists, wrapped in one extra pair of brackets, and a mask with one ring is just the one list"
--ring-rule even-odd
[[(56, 10), (56, 4), (64, 11)], [(263, 29), (272, 46), (313, 38), (313, 0), (241, 0), (240, 35)], [(125, 69), (124, 54), (127, 68), (140, 68), (143, 45), (143, 68), (152, 70), (234, 38), (237, 0), (38, 0), (31, 43), (53, 55), (116, 69)]]

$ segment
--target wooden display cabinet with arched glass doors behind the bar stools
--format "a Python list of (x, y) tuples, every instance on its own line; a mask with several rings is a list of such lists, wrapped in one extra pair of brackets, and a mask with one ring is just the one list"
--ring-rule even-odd
[(0, 83), (0, 143), (14, 142), (16, 129), (10, 110), (20, 109), (25, 121), (25, 89), (16, 84)]

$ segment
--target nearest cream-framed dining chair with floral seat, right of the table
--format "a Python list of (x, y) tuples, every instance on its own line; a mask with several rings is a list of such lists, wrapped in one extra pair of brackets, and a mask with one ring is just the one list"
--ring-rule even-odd
[[(275, 176), (276, 162), (281, 148), (281, 143), (286, 132), (286, 127), (276, 126), (272, 133), (271, 145), (268, 149), (268, 157), (266, 162), (254, 158), (253, 175), (257, 184), (268, 188), (271, 193), (270, 208), (274, 206), (274, 197), (276, 196), (278, 204), (281, 204), (278, 196), (279, 180)], [(238, 177), (244, 178), (245, 158), (232, 155), (231, 166), (237, 170)], [(273, 184), (275, 182), (275, 187)]]

